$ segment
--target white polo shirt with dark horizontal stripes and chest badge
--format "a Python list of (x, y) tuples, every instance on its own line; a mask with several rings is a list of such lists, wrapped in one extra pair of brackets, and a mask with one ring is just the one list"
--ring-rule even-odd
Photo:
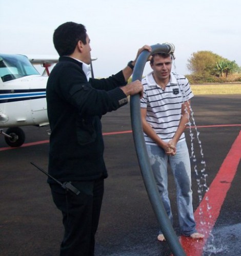
[[(168, 142), (173, 138), (182, 112), (182, 103), (193, 97), (188, 79), (182, 75), (170, 74), (170, 81), (165, 90), (158, 86), (153, 72), (142, 80), (144, 97), (140, 99), (140, 107), (147, 108), (147, 122), (156, 134)], [(156, 143), (144, 133), (146, 144)], [(185, 140), (185, 134), (179, 141)]]

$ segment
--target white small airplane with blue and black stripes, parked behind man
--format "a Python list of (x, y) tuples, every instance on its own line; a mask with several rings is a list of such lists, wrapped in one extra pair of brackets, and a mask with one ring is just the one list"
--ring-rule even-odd
[[(91, 58), (96, 60), (96, 58)], [(19, 126), (49, 125), (46, 84), (49, 67), (58, 57), (31, 57), (0, 53), (0, 134), (10, 147), (20, 147), (25, 133)], [(45, 67), (42, 75), (33, 64)], [(91, 74), (93, 77), (91, 64)], [(3, 132), (2, 128), (8, 128)]]

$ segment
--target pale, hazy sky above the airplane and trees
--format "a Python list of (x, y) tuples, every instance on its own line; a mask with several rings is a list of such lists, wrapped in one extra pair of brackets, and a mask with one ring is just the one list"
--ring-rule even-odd
[[(86, 26), (96, 78), (135, 59), (143, 45), (175, 46), (175, 71), (187, 75), (192, 53), (208, 50), (241, 66), (240, 0), (0, 0), (0, 52), (57, 56), (61, 24)], [(150, 72), (146, 64), (143, 75)]]

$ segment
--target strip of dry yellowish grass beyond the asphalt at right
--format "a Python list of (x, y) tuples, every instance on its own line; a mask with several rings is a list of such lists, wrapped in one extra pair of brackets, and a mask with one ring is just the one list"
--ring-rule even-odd
[(191, 89), (194, 95), (241, 94), (241, 83), (193, 84)]

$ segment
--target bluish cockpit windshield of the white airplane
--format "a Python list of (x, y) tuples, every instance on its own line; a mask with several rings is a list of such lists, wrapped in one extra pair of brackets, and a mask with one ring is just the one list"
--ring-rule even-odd
[(0, 76), (3, 82), (39, 75), (28, 58), (20, 54), (0, 54)]

